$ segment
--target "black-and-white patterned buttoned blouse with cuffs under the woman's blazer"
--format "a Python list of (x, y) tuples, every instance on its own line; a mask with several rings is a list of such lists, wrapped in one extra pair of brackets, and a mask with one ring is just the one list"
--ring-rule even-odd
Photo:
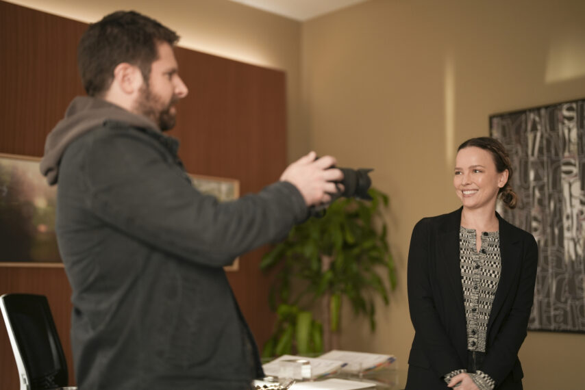
[[(484, 231), (479, 252), (475, 237), (474, 229), (460, 227), (459, 258), (467, 321), (467, 350), (486, 352), (488, 320), (501, 274), (499, 232)], [(466, 370), (450, 372), (445, 376), (445, 381), (449, 383), (453, 376), (462, 372)], [(482, 390), (495, 387), (494, 380), (480, 370), (470, 376)]]

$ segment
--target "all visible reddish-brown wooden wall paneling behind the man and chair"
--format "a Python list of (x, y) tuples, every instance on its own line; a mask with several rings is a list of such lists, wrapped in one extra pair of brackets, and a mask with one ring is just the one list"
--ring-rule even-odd
[[(71, 99), (84, 94), (76, 47), (87, 25), (0, 1), (0, 153), (42, 156), (45, 137)], [(172, 26), (171, 26), (172, 27)], [(285, 75), (221, 57), (177, 48), (179, 73), (190, 89), (178, 105), (179, 155), (190, 173), (240, 181), (240, 194), (278, 179), (286, 166)], [(240, 258), (228, 278), (258, 343), (269, 337), (270, 276), (258, 265), (266, 248)], [(0, 294), (49, 297), (70, 372), (71, 289), (62, 268), (0, 268)], [(0, 389), (18, 378), (0, 325)]]

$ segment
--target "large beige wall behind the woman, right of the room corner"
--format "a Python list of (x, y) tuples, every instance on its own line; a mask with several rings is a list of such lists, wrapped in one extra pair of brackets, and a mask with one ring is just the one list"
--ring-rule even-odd
[[(407, 366), (406, 259), (423, 216), (459, 206), (454, 148), (488, 135), (488, 115), (585, 96), (582, 0), (372, 0), (302, 28), (303, 120), (310, 145), (373, 167), (390, 195), (399, 286), (375, 335), (345, 313), (343, 348)], [(529, 333), (525, 388), (584, 389), (585, 335)]]

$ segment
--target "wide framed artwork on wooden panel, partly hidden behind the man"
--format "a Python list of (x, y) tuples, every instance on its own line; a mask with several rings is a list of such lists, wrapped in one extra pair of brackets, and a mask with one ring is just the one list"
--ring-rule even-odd
[[(0, 266), (63, 267), (55, 234), (57, 186), (47, 184), (40, 158), (0, 153)], [(240, 195), (234, 179), (190, 175), (193, 185), (219, 200)], [(238, 270), (238, 259), (225, 267)]]

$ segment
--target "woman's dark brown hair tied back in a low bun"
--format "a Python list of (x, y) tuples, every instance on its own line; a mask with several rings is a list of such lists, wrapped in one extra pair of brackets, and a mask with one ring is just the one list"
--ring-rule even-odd
[(484, 151), (490, 152), (498, 172), (501, 173), (504, 170), (508, 170), (508, 181), (506, 181), (506, 184), (499, 189), (498, 194), (501, 201), (506, 207), (508, 207), (508, 209), (514, 209), (518, 201), (518, 196), (516, 195), (516, 192), (512, 190), (512, 186), (510, 185), (510, 180), (512, 180), (512, 163), (510, 162), (510, 157), (508, 157), (506, 148), (503, 147), (501, 142), (495, 140), (495, 138), (477, 137), (466, 140), (460, 144), (457, 151), (460, 151), (463, 148), (469, 148), (470, 146), (482, 148)]

